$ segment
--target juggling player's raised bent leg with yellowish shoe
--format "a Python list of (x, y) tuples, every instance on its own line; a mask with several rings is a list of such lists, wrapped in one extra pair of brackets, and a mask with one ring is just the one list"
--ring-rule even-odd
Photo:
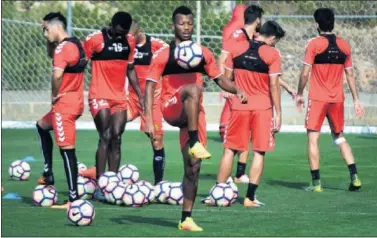
[(196, 84), (184, 85), (181, 88), (181, 100), (183, 102), (183, 112), (181, 122), (187, 122), (190, 155), (195, 159), (209, 159), (211, 154), (199, 142), (199, 112), (200, 98), (203, 95), (203, 88)]

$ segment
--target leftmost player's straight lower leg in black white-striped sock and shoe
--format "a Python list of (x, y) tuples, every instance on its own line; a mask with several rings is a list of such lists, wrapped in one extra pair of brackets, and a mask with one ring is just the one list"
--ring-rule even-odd
[(63, 158), (65, 174), (68, 183), (68, 201), (63, 204), (53, 205), (51, 208), (67, 209), (71, 202), (79, 199), (77, 194), (77, 157), (74, 145), (61, 146), (60, 154)]

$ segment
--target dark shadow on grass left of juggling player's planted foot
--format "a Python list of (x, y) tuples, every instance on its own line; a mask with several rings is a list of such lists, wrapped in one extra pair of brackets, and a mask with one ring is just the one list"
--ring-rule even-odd
[[(177, 219), (176, 219), (177, 220)], [(177, 227), (178, 220), (166, 219), (163, 217), (147, 217), (147, 216), (134, 216), (124, 215), (121, 217), (110, 218), (110, 221), (117, 224), (133, 224), (133, 223), (145, 223), (150, 225), (165, 226), (165, 227)]]

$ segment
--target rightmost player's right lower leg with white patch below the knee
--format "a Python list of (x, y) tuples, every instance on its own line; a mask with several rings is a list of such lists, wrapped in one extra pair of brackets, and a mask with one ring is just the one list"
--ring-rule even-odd
[(346, 139), (344, 138), (343, 132), (341, 133), (332, 133), (333, 139), (335, 144), (339, 146), (340, 153), (346, 162), (349, 172), (350, 172), (350, 179), (351, 183), (349, 186), (350, 191), (359, 190), (361, 188), (361, 181), (357, 176), (357, 168), (355, 164), (355, 158), (352, 153), (351, 146), (348, 144)]

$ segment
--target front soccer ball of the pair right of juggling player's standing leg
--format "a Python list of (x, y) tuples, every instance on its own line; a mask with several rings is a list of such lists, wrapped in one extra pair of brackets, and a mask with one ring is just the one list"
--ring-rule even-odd
[(216, 184), (209, 194), (211, 201), (219, 207), (229, 206), (234, 197), (233, 189), (226, 183)]

